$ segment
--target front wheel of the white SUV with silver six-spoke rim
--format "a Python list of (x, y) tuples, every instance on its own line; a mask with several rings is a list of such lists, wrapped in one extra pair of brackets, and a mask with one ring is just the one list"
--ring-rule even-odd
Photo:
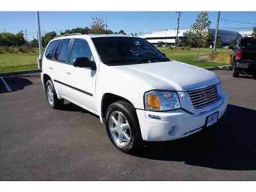
[(140, 124), (132, 104), (118, 101), (106, 111), (106, 129), (116, 148), (126, 154), (134, 154), (143, 148)]

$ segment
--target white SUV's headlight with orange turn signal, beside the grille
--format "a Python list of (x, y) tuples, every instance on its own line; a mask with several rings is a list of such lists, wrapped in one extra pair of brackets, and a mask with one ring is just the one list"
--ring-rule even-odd
[(180, 100), (176, 92), (150, 91), (144, 95), (145, 109), (150, 111), (167, 111), (179, 109)]

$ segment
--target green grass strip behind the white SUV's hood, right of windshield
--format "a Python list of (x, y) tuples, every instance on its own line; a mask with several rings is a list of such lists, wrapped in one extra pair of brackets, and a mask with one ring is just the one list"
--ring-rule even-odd
[[(189, 50), (180, 49), (168, 49), (168, 47), (157, 47), (159, 51), (164, 52), (166, 56), (172, 60), (180, 61), (183, 63), (188, 63), (191, 65), (196, 65), (197, 67), (214, 67), (221, 65), (228, 65), (224, 62), (216, 61), (198, 61), (197, 60), (197, 50), (190, 48)], [(211, 55), (211, 49), (201, 49), (200, 58), (208, 58)]]

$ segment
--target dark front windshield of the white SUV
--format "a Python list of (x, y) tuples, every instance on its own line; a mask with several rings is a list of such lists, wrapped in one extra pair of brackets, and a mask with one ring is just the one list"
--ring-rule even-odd
[(100, 59), (107, 65), (131, 65), (170, 61), (143, 38), (98, 37), (92, 38)]

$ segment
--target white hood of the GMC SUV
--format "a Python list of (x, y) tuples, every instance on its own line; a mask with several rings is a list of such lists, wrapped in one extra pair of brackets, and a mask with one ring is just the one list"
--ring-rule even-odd
[(219, 82), (213, 72), (179, 61), (121, 65), (115, 68), (139, 77), (159, 90), (186, 91)]

